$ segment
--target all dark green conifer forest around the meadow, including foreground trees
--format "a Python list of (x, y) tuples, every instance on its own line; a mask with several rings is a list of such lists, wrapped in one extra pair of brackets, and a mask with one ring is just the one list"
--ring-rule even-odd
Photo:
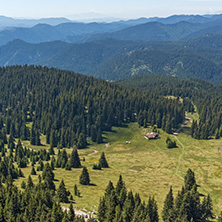
[[(194, 111), (195, 104), (200, 121), (194, 123), (192, 136), (198, 138), (196, 132), (203, 124), (211, 127), (212, 134), (220, 129), (217, 118), (221, 114), (215, 114), (222, 92), (219, 86), (216, 90), (202, 81), (156, 78), (147, 82), (143, 79), (143, 87), (149, 90), (141, 91), (54, 68), (0, 68), (0, 221), (84, 221), (75, 215), (73, 196), (63, 180), (56, 189), (53, 171), (81, 168), (78, 149), (87, 147), (89, 141), (102, 143), (102, 132), (111, 131), (113, 126), (137, 121), (142, 127), (155, 126), (171, 133), (184, 121), (185, 111)], [(135, 83), (141, 88), (141, 83)], [(207, 90), (211, 93), (206, 94)], [(217, 121), (214, 131), (209, 120)], [(34, 151), (22, 145), (22, 141), (29, 140), (41, 146), (41, 135), (50, 144), (48, 150)], [(68, 154), (63, 147), (71, 148), (71, 152)], [(28, 164), (32, 166), (30, 175), (24, 175)], [(109, 168), (104, 152), (94, 169), (98, 168)], [(35, 184), (32, 175), (37, 171), (40, 174)], [(22, 181), (20, 189), (13, 182), (24, 176), (28, 181)], [(90, 182), (83, 166), (79, 183), (85, 186)], [(207, 221), (213, 217), (212, 201), (210, 196), (200, 197), (197, 187), (194, 172), (188, 170), (184, 187), (175, 199), (170, 188), (161, 211), (154, 197), (145, 203), (138, 193), (128, 191), (120, 176), (116, 187), (110, 181), (100, 199), (97, 220), (157, 222), (162, 217), (164, 221)], [(80, 196), (76, 185), (74, 194)], [(63, 203), (69, 208), (62, 208)]]

